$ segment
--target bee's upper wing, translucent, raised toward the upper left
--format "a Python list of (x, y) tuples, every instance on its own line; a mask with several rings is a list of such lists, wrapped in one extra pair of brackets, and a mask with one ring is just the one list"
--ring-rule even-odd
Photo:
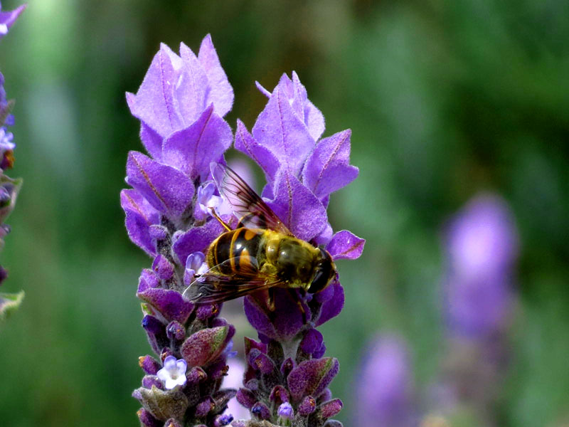
[(268, 228), (287, 236), (294, 236), (285, 223), (262, 201), (243, 179), (230, 167), (211, 164), (211, 174), (218, 190), (240, 216), (240, 223), (248, 228)]

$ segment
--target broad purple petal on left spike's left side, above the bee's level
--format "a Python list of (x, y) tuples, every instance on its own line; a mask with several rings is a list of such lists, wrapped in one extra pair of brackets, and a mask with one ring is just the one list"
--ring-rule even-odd
[(129, 152), (127, 183), (169, 218), (179, 218), (191, 206), (194, 188), (188, 177), (142, 153)]

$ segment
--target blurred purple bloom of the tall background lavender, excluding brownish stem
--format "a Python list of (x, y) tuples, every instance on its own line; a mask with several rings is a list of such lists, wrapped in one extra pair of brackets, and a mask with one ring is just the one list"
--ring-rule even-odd
[(518, 237), (503, 199), (477, 196), (447, 230), (445, 297), (452, 332), (482, 336), (509, 314)]

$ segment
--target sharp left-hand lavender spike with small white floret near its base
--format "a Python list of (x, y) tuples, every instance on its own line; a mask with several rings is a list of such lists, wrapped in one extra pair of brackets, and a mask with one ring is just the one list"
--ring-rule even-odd
[(133, 393), (143, 406), (139, 420), (142, 426), (225, 426), (232, 418), (223, 411), (235, 390), (220, 384), (235, 329), (218, 317), (220, 305), (196, 307), (181, 295), (203, 273), (203, 254), (223, 231), (200, 207), (211, 190), (209, 164), (223, 161), (233, 139), (222, 118), (233, 89), (210, 36), (198, 56), (184, 43), (179, 56), (162, 45), (127, 102), (150, 157), (129, 153), (133, 188), (121, 192), (121, 205), (129, 238), (154, 258), (151, 270), (142, 270), (137, 296), (142, 327), (159, 357), (139, 360), (146, 374)]

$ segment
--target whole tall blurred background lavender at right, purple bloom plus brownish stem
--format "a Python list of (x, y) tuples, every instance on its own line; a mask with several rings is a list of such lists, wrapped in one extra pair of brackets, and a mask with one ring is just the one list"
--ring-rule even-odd
[(483, 194), (454, 218), (446, 237), (448, 349), (435, 409), (450, 418), (469, 412), (479, 425), (498, 425), (494, 404), (508, 360), (516, 228), (506, 202)]

